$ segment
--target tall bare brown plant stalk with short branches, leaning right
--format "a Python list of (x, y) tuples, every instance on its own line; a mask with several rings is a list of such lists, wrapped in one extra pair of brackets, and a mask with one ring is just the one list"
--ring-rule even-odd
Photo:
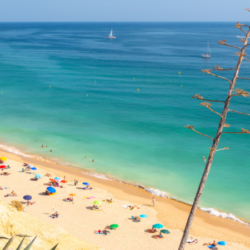
[[(249, 9), (246, 9), (246, 10), (250, 11)], [(237, 23), (235, 25), (235, 27), (237, 27), (238, 29), (240, 29), (245, 34), (245, 38), (244, 39), (240, 39), (240, 41), (242, 43), (244, 43), (244, 45), (242, 46), (242, 48), (226, 44), (226, 40), (219, 41), (218, 43), (221, 44), (221, 45), (224, 45), (224, 46), (229, 46), (229, 47), (236, 48), (236, 49), (240, 50), (240, 52), (236, 52), (235, 53), (239, 57), (237, 65), (236, 65), (236, 68), (233, 68), (233, 69), (223, 69), (220, 66), (216, 65), (214, 67), (214, 69), (213, 69), (213, 70), (219, 70), (219, 71), (234, 70), (234, 76), (233, 76), (232, 80), (229, 80), (229, 79), (227, 79), (225, 77), (222, 77), (222, 76), (219, 76), (219, 75), (216, 75), (216, 74), (213, 74), (212, 70), (210, 70), (210, 69), (202, 70), (202, 72), (204, 72), (204, 73), (207, 73), (209, 75), (221, 78), (221, 79), (226, 80), (226, 81), (228, 81), (230, 83), (229, 90), (228, 90), (228, 95), (227, 95), (226, 100), (225, 101), (207, 100), (207, 99), (204, 99), (199, 94), (196, 94), (196, 95), (193, 96), (194, 99), (203, 100), (203, 101), (209, 101), (209, 102), (202, 102), (201, 105), (204, 106), (204, 107), (206, 107), (206, 108), (208, 108), (210, 111), (216, 113), (217, 115), (219, 115), (221, 117), (220, 123), (218, 125), (218, 129), (217, 129), (217, 133), (216, 133), (215, 137), (212, 138), (212, 137), (210, 137), (210, 136), (208, 136), (206, 134), (200, 133), (200, 132), (196, 131), (193, 126), (190, 126), (190, 125), (185, 126), (188, 129), (191, 129), (191, 130), (193, 130), (194, 132), (196, 132), (198, 134), (201, 134), (203, 136), (206, 136), (206, 137), (210, 138), (213, 141), (213, 143), (212, 143), (212, 147), (210, 148), (210, 153), (209, 153), (209, 157), (208, 157), (207, 161), (206, 161), (205, 157), (203, 157), (204, 160), (205, 160), (205, 162), (206, 162), (206, 166), (205, 166), (205, 169), (204, 169), (201, 181), (200, 181), (200, 185), (198, 187), (198, 190), (197, 190), (197, 193), (196, 193), (196, 196), (195, 196), (195, 199), (194, 199), (194, 202), (193, 202), (193, 205), (192, 205), (192, 208), (191, 208), (191, 211), (190, 211), (187, 223), (186, 223), (186, 227), (184, 229), (184, 233), (183, 233), (183, 236), (182, 236), (182, 239), (181, 239), (181, 242), (180, 242), (180, 246), (178, 248), (179, 250), (184, 250), (185, 243), (187, 241), (187, 238), (188, 238), (188, 235), (189, 235), (189, 232), (190, 232), (190, 229), (191, 229), (191, 225), (192, 225), (192, 222), (193, 222), (193, 219), (194, 219), (194, 216), (195, 216), (195, 212), (196, 212), (196, 210), (198, 208), (199, 201), (200, 201), (200, 198), (201, 198), (204, 186), (206, 184), (210, 168), (211, 168), (212, 163), (213, 163), (215, 152), (216, 151), (220, 151), (220, 150), (224, 150), (224, 149), (229, 149), (228, 147), (225, 147), (223, 149), (217, 149), (222, 134), (224, 134), (224, 133), (230, 133), (230, 134), (250, 134), (250, 132), (247, 129), (241, 129), (241, 131), (239, 131), (239, 132), (223, 132), (223, 128), (224, 127), (226, 127), (226, 128), (230, 127), (229, 124), (226, 124), (226, 118), (227, 118), (228, 112), (235, 112), (235, 113), (239, 113), (239, 114), (243, 114), (243, 115), (250, 115), (250, 114), (246, 114), (246, 113), (243, 113), (243, 112), (239, 112), (239, 111), (235, 111), (235, 110), (230, 110), (229, 109), (229, 104), (230, 104), (230, 101), (231, 101), (232, 97), (234, 97), (234, 96), (249, 97), (249, 93), (247, 91), (245, 91), (243, 89), (235, 89), (235, 86), (236, 86), (236, 81), (238, 79), (250, 80), (250, 78), (244, 78), (244, 77), (239, 77), (238, 76), (242, 61), (243, 60), (250, 61), (249, 59), (244, 58), (244, 56), (247, 55), (245, 53), (245, 50), (246, 50), (247, 46), (250, 46), (250, 44), (248, 44), (249, 35), (250, 35), (250, 26)], [(215, 110), (213, 110), (211, 108), (212, 105), (211, 105), (210, 102), (221, 102), (221, 103), (224, 103), (224, 109), (223, 109), (222, 114), (220, 114), (220, 113), (216, 112)]]

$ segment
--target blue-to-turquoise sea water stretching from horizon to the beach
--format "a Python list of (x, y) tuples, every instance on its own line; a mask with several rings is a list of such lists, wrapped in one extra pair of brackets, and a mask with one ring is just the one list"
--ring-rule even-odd
[[(111, 28), (114, 40), (105, 38)], [(238, 36), (234, 23), (1, 23), (1, 143), (190, 203), (212, 141), (184, 126), (214, 136), (219, 122), (191, 97), (225, 99), (228, 82), (201, 69), (235, 67), (235, 49), (217, 41), (237, 45)], [(207, 42), (212, 58), (202, 59)], [(249, 67), (240, 75), (250, 77)], [(249, 98), (231, 103), (249, 107)], [(227, 123), (250, 129), (247, 116), (229, 114)], [(223, 135), (225, 146), (200, 206), (250, 221), (250, 136)]]

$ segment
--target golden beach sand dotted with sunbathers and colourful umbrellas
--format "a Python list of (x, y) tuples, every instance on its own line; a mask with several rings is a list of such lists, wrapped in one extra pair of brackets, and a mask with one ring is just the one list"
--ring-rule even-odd
[[(6, 203), (11, 200), (22, 201), (24, 195), (31, 195), (36, 206), (26, 208), (26, 213), (31, 214), (44, 222), (59, 226), (74, 237), (89, 242), (103, 249), (178, 249), (182, 231), (190, 210), (190, 206), (160, 197), (156, 198), (156, 206), (152, 207), (152, 195), (141, 188), (125, 185), (104, 179), (97, 179), (83, 174), (81, 170), (61, 166), (58, 164), (39, 161), (0, 151), (1, 156), (8, 158), (7, 164), (11, 166), (9, 176), (0, 176), (0, 186), (8, 189), (0, 190), (0, 199)], [(29, 162), (38, 168), (35, 174), (53, 173), (53, 176), (66, 176), (67, 184), (64, 188), (57, 188), (53, 196), (41, 195), (46, 189), (45, 183), (49, 178), (43, 177), (39, 181), (31, 181), (34, 174), (21, 172), (23, 162)], [(79, 181), (78, 186), (73, 185), (73, 180)], [(83, 181), (91, 183), (93, 190), (83, 190)], [(4, 197), (14, 190), (18, 197)], [(75, 193), (74, 204), (64, 202), (63, 199), (70, 193)], [(85, 196), (94, 196), (86, 199)], [(101, 211), (92, 211), (90, 207), (94, 200), (110, 199), (114, 203), (102, 204)], [(129, 210), (122, 205), (138, 205), (140, 209)], [(58, 219), (49, 217), (54, 211), (62, 216)], [(132, 222), (131, 216), (140, 214), (148, 215), (141, 222)], [(155, 223), (162, 223), (164, 228), (171, 233), (164, 235), (163, 239), (153, 239), (145, 230)], [(117, 230), (112, 230), (109, 236), (94, 234), (94, 230), (103, 230), (110, 224), (119, 224)], [(227, 246), (218, 249), (244, 250), (250, 247), (250, 227), (244, 224), (218, 218), (203, 211), (198, 211), (195, 217), (191, 235), (197, 238), (198, 244), (187, 244), (185, 249), (208, 249), (203, 247), (204, 242), (225, 240)], [(74, 248), (71, 248), (72, 250)]]

